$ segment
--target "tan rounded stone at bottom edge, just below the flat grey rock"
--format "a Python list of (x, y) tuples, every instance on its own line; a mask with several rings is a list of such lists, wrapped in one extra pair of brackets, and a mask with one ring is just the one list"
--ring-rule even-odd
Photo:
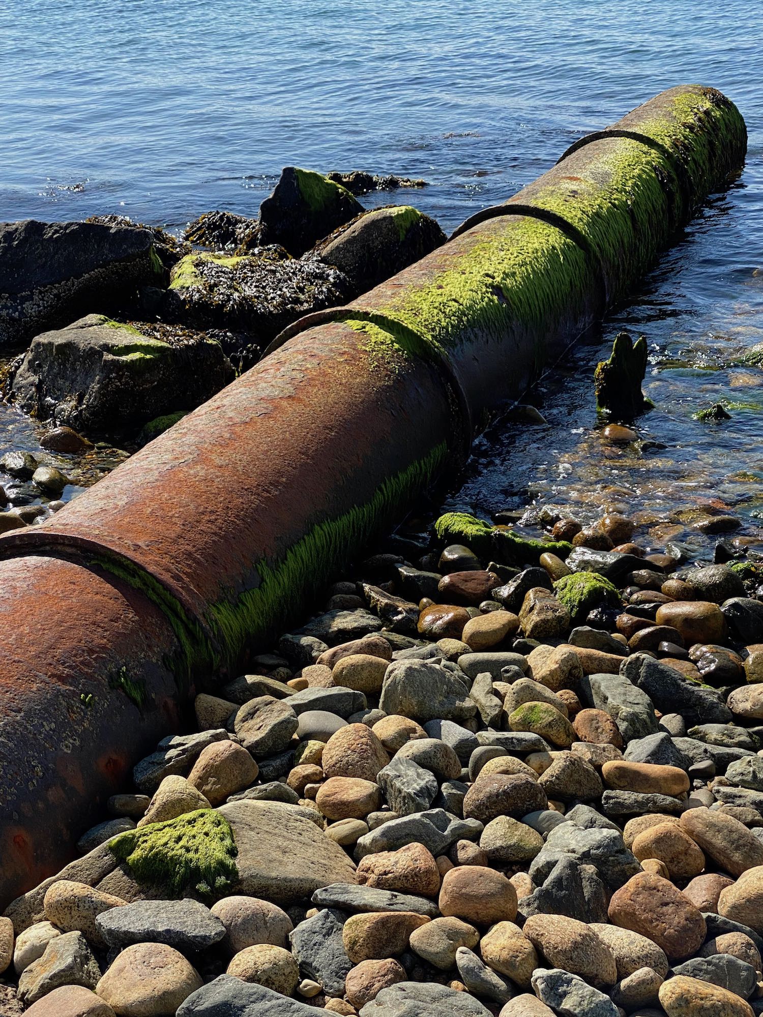
[(115, 958), (96, 992), (119, 1017), (159, 1017), (175, 1013), (202, 984), (177, 950), (163, 943), (137, 943)]

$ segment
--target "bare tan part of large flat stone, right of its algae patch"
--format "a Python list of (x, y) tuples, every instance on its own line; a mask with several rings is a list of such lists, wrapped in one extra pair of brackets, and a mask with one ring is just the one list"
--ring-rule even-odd
[(357, 883), (347, 854), (302, 810), (243, 799), (219, 812), (230, 823), (238, 850), (231, 893), (292, 904), (332, 883)]

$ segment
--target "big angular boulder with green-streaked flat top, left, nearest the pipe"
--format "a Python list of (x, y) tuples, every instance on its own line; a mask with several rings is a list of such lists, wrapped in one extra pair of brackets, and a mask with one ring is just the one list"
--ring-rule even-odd
[(76, 430), (114, 433), (192, 409), (233, 380), (215, 340), (141, 327), (89, 314), (38, 336), (13, 379), (18, 405)]

